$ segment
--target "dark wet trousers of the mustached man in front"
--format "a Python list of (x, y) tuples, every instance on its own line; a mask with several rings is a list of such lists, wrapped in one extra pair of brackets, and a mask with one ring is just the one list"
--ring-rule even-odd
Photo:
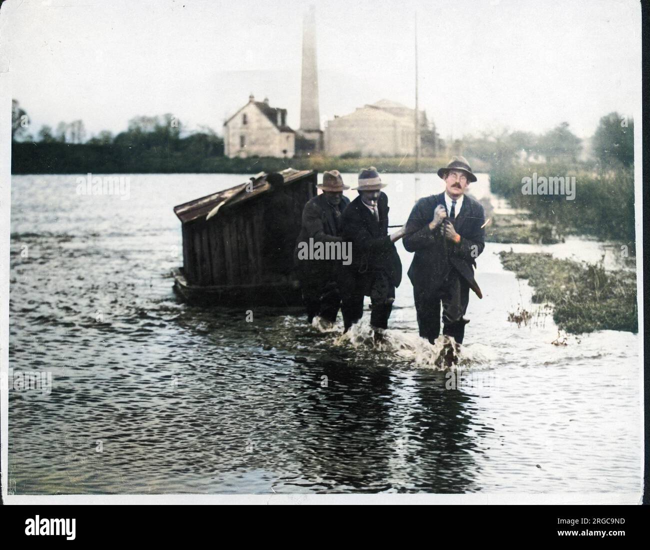
[(442, 285), (435, 289), (413, 287), (417, 326), (422, 338), (431, 343), (440, 334), (440, 305), (443, 309), (443, 334), (463, 343), (465, 321), (462, 319), (469, 304), (469, 283), (455, 269), (450, 270)]

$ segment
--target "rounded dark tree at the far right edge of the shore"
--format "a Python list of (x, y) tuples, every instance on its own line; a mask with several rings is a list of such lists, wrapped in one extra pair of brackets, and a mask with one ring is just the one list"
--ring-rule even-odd
[(593, 135), (593, 154), (607, 166), (634, 165), (634, 120), (617, 112), (601, 118)]

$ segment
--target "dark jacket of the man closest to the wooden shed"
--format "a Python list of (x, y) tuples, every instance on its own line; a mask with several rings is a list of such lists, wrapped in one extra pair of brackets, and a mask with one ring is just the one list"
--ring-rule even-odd
[[(338, 206), (331, 205), (324, 194), (311, 198), (302, 211), (302, 227), (296, 239), (296, 246), (293, 252), (294, 265), (298, 268), (300, 275), (313, 275), (328, 278), (335, 264), (340, 260), (300, 260), (298, 259), (298, 243), (309, 242), (339, 242), (341, 241), (341, 218), (345, 207), (350, 204), (350, 199), (341, 197)], [(338, 211), (338, 215), (337, 215)]]

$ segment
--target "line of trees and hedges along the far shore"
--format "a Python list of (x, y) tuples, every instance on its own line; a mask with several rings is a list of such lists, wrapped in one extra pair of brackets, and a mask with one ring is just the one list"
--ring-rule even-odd
[[(88, 138), (82, 120), (60, 122), (55, 129), (43, 125), (34, 135), (31, 133), (29, 115), (14, 99), (12, 142), (16, 160), (12, 163), (12, 169), (23, 174), (56, 173), (52, 171), (55, 169), (63, 173), (81, 172), (86, 166), (94, 166), (92, 169), (96, 172), (109, 168), (135, 172), (236, 172), (252, 164), (250, 159), (226, 159), (224, 140), (210, 127), (201, 126), (198, 131), (190, 132), (177, 117), (169, 113), (135, 117), (129, 120), (127, 129), (117, 135), (101, 131)], [(34, 148), (33, 144), (39, 147)], [(601, 118), (591, 138), (589, 161), (580, 161), (584, 145), (573, 134), (569, 124), (562, 122), (539, 135), (504, 130), (478, 136), (467, 135), (447, 142), (438, 139), (436, 149), (441, 157), (462, 154), (476, 159), (484, 164), (486, 170), (499, 170), (517, 161), (630, 168), (634, 164), (634, 121), (617, 112), (610, 112)], [(41, 155), (47, 157), (48, 154), (55, 158), (50, 158), (47, 163), (38, 158)], [(128, 159), (129, 155), (131, 160)], [(343, 158), (354, 161), (359, 156), (348, 154)], [(79, 164), (79, 160), (84, 158), (85, 161)], [(309, 167), (307, 164), (310, 161), (294, 159), (292, 164)], [(261, 163), (256, 161), (254, 164), (259, 168)], [(263, 164), (266, 169), (266, 164), (284, 166), (287, 161), (265, 159)], [(404, 163), (400, 164), (404, 166)], [(388, 159), (385, 165), (388, 170), (395, 171)]]

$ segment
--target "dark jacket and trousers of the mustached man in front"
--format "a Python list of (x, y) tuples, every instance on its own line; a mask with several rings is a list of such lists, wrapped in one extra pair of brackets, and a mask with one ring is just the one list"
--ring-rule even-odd
[[(420, 335), (433, 341), (440, 334), (440, 305), (443, 305), (443, 334), (463, 342), (469, 289), (479, 298), (476, 280), (476, 257), (485, 246), (485, 213), (480, 203), (465, 195), (463, 205), (451, 222), (461, 237), (460, 243), (446, 239), (441, 226), (431, 231), (437, 205), (445, 205), (445, 193), (420, 199), (406, 222), (404, 248), (415, 252), (408, 276), (413, 283), (413, 297)], [(445, 205), (445, 209), (446, 209)], [(447, 213), (449, 214), (449, 213)]]

